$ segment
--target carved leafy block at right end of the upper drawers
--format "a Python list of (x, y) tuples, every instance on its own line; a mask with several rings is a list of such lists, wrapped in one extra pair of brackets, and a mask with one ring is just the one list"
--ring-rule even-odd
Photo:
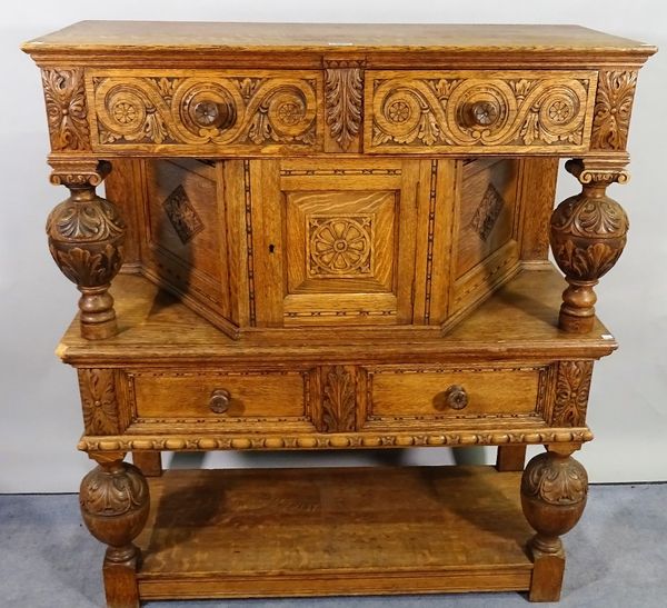
[(636, 86), (636, 71), (599, 73), (590, 136), (591, 149), (625, 150)]

